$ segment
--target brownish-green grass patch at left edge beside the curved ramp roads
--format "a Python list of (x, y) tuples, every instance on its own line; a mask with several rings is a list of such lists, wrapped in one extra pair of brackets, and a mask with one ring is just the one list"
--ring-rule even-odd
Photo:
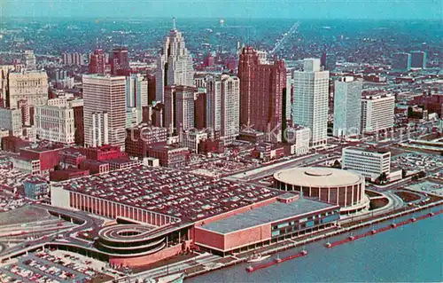
[(36, 208), (34, 206), (26, 205), (21, 208), (9, 210), (0, 213), (0, 226), (11, 224), (24, 224), (28, 222), (35, 222), (54, 218), (46, 209)]

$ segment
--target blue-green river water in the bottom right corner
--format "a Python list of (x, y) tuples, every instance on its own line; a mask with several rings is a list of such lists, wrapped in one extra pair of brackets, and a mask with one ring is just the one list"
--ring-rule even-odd
[[(406, 217), (396, 222), (400, 219)], [(320, 241), (306, 246), (307, 257), (265, 270), (248, 273), (245, 271), (247, 263), (242, 263), (186, 282), (442, 281), (442, 220), (442, 215), (434, 216), (336, 248), (324, 248), (325, 241)], [(331, 240), (345, 237), (341, 235)], [(291, 255), (299, 249), (285, 251), (280, 256)]]

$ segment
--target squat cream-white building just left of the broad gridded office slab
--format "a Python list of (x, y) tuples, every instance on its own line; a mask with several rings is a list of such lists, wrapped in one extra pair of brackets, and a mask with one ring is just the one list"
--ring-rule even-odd
[(57, 106), (35, 106), (34, 120), (37, 138), (62, 144), (74, 144), (74, 109), (69, 106), (69, 103), (65, 102)]

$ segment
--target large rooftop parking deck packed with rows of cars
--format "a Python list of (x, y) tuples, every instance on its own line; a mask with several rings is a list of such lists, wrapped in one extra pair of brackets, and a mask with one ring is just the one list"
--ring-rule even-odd
[(60, 182), (68, 191), (113, 200), (194, 222), (268, 200), (284, 192), (191, 174), (137, 166)]

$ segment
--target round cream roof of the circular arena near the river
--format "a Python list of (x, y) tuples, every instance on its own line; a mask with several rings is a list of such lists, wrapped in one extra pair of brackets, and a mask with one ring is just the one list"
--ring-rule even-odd
[(285, 169), (276, 172), (274, 178), (284, 184), (312, 187), (346, 186), (364, 182), (364, 178), (357, 173), (326, 167)]

